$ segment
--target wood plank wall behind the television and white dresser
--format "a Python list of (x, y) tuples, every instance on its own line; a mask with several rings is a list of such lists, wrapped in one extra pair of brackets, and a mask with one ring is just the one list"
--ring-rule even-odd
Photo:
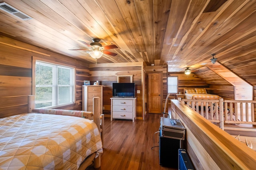
[[(117, 83), (117, 75), (133, 75), (133, 83), (135, 83), (135, 97), (137, 98), (137, 119), (143, 119), (143, 62), (134, 63), (100, 63), (90, 64), (90, 83), (93, 84), (97, 80), (99, 85), (103, 86), (103, 113), (106, 117), (110, 117), (112, 97), (112, 83)], [(140, 93), (137, 93), (140, 90)]]

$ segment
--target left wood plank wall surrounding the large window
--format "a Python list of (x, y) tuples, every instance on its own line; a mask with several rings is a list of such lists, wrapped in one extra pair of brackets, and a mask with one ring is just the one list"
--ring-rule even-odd
[(27, 113), (28, 95), (32, 95), (32, 56), (76, 67), (75, 103), (58, 109), (82, 109), (83, 80), (89, 80), (88, 64), (0, 36), (0, 117)]

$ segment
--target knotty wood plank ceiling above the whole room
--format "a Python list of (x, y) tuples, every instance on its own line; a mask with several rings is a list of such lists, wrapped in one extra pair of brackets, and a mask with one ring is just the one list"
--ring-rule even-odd
[(69, 49), (88, 49), (78, 40), (100, 38), (103, 46), (117, 45), (108, 51), (118, 55), (104, 54), (98, 63), (145, 61), (181, 72), (211, 64), (216, 53), (228, 69), (245, 78), (254, 72), (256, 80), (256, 0), (4, 2), (32, 19), (0, 10), (1, 35), (88, 63), (95, 59), (86, 51)]

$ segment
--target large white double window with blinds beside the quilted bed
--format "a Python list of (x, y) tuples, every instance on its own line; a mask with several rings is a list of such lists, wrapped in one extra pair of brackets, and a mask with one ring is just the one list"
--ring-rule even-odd
[(74, 68), (36, 61), (36, 108), (74, 103)]

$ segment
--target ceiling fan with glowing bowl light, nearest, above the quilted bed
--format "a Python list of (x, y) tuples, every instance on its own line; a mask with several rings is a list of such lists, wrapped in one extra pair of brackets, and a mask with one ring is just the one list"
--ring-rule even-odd
[[(80, 40), (78, 40), (80, 41)], [(102, 54), (108, 54), (108, 55), (112, 55), (112, 56), (116, 56), (117, 53), (112, 53), (110, 51), (106, 51), (106, 49), (114, 49), (114, 48), (118, 48), (116, 45), (111, 44), (111, 45), (106, 45), (106, 46), (102, 46), (100, 42), (99, 38), (94, 38), (92, 39), (92, 42), (90, 44), (84, 42), (84, 41), (80, 41), (83, 44), (85, 44), (86, 46), (90, 47), (90, 49), (70, 49), (70, 50), (85, 50), (88, 51), (88, 53), (90, 54), (90, 56), (92, 58), (98, 59), (102, 56)]]

